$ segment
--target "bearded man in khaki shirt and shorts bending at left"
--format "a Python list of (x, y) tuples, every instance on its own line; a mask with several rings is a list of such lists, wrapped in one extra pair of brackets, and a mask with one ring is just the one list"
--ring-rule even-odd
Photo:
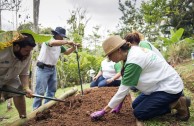
[[(29, 88), (29, 66), (31, 51), (36, 46), (31, 34), (22, 33), (23, 39), (13, 42), (13, 46), (0, 50), (0, 88), (24, 90), (27, 97), (32, 97)], [(3, 95), (2, 95), (3, 94)], [(14, 105), (20, 118), (26, 118), (24, 95), (1, 92), (4, 100), (13, 97)]]

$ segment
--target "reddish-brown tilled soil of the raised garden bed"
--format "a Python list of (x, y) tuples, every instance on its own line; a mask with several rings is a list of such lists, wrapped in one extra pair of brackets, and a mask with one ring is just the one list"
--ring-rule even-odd
[(120, 113), (107, 113), (102, 119), (92, 121), (90, 114), (104, 108), (118, 87), (103, 87), (85, 90), (66, 98), (48, 110), (37, 113), (25, 126), (136, 126), (131, 109), (131, 97), (127, 96)]

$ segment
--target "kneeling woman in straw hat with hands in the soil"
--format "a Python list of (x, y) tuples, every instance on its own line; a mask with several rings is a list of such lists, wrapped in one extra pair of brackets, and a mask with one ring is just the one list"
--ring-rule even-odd
[(105, 54), (113, 62), (124, 61), (124, 74), (117, 93), (108, 105), (92, 113), (92, 119), (103, 117), (108, 111), (119, 112), (130, 86), (142, 93), (132, 103), (133, 114), (139, 120), (177, 110), (177, 118), (187, 121), (190, 117), (190, 99), (181, 96), (183, 82), (178, 73), (153, 51), (131, 46), (119, 36), (111, 36), (103, 44)]

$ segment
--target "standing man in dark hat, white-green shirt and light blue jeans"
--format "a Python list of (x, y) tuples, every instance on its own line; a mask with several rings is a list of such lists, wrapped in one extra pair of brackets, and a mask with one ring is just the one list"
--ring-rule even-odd
[[(40, 50), (35, 87), (36, 94), (46, 95), (47, 97), (54, 97), (57, 90), (56, 64), (60, 53), (69, 55), (76, 49), (76, 46), (79, 46), (79, 44), (75, 44), (74, 42), (63, 40), (63, 38), (67, 38), (64, 28), (56, 27), (56, 29), (51, 32), (53, 38), (49, 42), (44, 42)], [(63, 45), (70, 45), (72, 47), (66, 49)], [(44, 103), (48, 101), (49, 100), (45, 100)], [(40, 107), (41, 104), (41, 98), (34, 98), (33, 110)]]

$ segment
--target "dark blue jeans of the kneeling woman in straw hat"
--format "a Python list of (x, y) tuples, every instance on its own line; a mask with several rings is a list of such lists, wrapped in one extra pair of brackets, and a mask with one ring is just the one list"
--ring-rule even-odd
[(133, 114), (139, 120), (148, 120), (150, 118), (170, 113), (170, 104), (179, 99), (182, 92), (178, 94), (169, 94), (166, 92), (154, 92), (150, 95), (140, 94), (132, 103)]

